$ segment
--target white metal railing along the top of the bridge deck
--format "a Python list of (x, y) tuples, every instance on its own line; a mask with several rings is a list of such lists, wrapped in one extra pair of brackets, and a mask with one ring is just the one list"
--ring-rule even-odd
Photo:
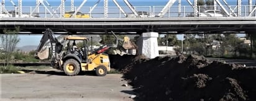
[[(164, 14), (163, 18), (171, 17), (255, 17), (256, 12), (250, 9), (249, 6), (241, 6), (239, 12), (237, 6), (217, 6), (214, 10), (214, 6), (198, 6), (198, 12), (194, 13), (194, 9), (191, 6), (181, 6), (180, 10), (178, 6), (171, 6), (168, 12)], [(42, 7), (36, 9), (34, 6), (23, 6), (22, 12), (18, 12), (17, 7), (5, 7), (5, 9), (11, 14), (7, 16), (5, 12), (0, 12), (0, 17), (34, 17), (34, 18), (64, 18), (62, 11), (58, 7)], [(75, 7), (75, 10), (78, 7)], [(82, 7), (79, 12), (88, 15), (89, 18), (104, 18), (104, 7)], [(135, 18), (136, 16), (129, 9), (129, 7), (122, 7), (125, 14), (121, 12), (118, 7), (109, 7), (107, 18)], [(163, 9), (163, 6), (135, 6), (134, 9), (143, 17), (158, 17), (158, 14)], [(3, 11), (0, 7), (0, 11)], [(71, 10), (71, 7), (65, 7), (64, 12)], [(92, 12), (89, 12), (92, 10)], [(194, 15), (196, 14), (196, 15)], [(78, 14), (79, 15), (79, 14)], [(78, 16), (75, 16), (75, 18)], [(158, 17), (159, 18), (159, 17)]]

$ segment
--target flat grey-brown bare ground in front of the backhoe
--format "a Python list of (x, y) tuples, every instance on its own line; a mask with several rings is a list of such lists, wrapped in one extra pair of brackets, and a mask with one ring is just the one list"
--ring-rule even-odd
[(5, 74), (0, 75), (1, 100), (132, 100), (121, 76)]

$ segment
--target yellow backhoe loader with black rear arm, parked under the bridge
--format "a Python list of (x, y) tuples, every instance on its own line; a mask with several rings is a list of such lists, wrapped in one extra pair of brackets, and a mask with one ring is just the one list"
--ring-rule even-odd
[[(64, 45), (55, 38), (53, 31), (48, 28), (45, 30), (40, 44), (37, 47), (36, 57), (39, 59), (48, 59), (49, 53), (51, 53), (52, 67), (63, 70), (68, 76), (78, 75), (80, 71), (96, 71), (97, 76), (105, 76), (107, 71), (110, 71), (110, 63), (108, 55), (104, 54), (104, 52), (110, 47), (117, 47), (119, 41), (116, 34), (113, 32), (112, 34), (116, 38), (116, 44), (111, 46), (104, 45), (95, 51), (89, 52), (88, 38), (74, 36), (64, 37), (64, 41), (68, 42), (66, 46), (63, 47)], [(51, 48), (43, 48), (48, 39), (50, 40)], [(76, 47), (76, 42), (78, 41), (83, 42), (83, 47), (80, 47), (80, 49)], [(129, 40), (124, 39), (124, 42), (127, 41)], [(131, 44), (124, 46), (127, 46), (125, 49), (132, 47)]]

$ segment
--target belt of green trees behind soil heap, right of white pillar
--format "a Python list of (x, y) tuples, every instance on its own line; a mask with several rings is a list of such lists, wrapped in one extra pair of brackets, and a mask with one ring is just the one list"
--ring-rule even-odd
[[(256, 36), (248, 34), (246, 39), (256, 41)], [(178, 46), (174, 50), (181, 53), (181, 41), (175, 34), (158, 38), (158, 45)], [(229, 59), (255, 59), (256, 45), (244, 44), (237, 34), (185, 34), (183, 40), (184, 54), (204, 55), (206, 57), (222, 57)]]

